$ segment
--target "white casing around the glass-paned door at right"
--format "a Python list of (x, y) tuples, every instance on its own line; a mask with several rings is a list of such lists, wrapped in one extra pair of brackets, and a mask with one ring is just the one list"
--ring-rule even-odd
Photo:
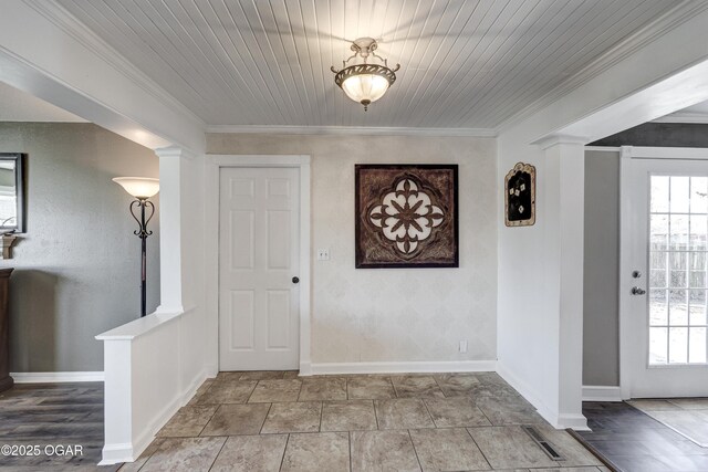
[(634, 208), (632, 193), (632, 159), (676, 159), (708, 160), (708, 149), (687, 147), (639, 147), (620, 148), (620, 391), (623, 400), (632, 398), (632, 352), (631, 316), (633, 280), (627, 275), (633, 271), (632, 234), (635, 230), (633, 216), (642, 209)]

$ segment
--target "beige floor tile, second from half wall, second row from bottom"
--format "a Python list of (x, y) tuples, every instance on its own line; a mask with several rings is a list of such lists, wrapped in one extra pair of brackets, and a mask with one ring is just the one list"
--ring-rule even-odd
[(269, 403), (222, 405), (201, 436), (258, 434), (269, 409)]

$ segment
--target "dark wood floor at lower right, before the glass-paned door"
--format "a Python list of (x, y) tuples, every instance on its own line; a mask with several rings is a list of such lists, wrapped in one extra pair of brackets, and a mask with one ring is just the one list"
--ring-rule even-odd
[(708, 448), (625, 402), (584, 402), (581, 436), (623, 472), (706, 472)]

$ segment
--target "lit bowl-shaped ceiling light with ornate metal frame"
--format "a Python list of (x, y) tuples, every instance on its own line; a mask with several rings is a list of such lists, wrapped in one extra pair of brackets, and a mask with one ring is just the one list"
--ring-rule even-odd
[[(384, 96), (388, 87), (396, 82), (395, 72), (400, 69), (400, 64), (396, 64), (395, 69), (388, 69), (387, 61), (374, 52), (377, 48), (375, 39), (360, 38), (352, 43), (351, 50), (354, 54), (346, 61), (342, 61), (344, 69), (337, 71), (334, 66), (330, 67), (336, 74), (334, 82), (346, 96), (364, 105), (365, 112), (369, 104)], [(356, 56), (363, 62), (347, 66), (346, 64)], [(377, 59), (383, 65), (369, 64), (369, 56)]]

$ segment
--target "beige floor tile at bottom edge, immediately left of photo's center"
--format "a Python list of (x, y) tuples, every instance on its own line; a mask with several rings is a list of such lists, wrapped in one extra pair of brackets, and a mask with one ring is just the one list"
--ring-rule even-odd
[(282, 472), (348, 472), (350, 436), (345, 432), (290, 434)]

